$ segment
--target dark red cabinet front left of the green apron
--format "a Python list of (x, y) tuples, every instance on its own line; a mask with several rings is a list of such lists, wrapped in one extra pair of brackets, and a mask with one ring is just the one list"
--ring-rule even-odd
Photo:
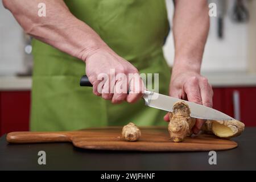
[(0, 135), (11, 131), (28, 131), (30, 91), (0, 92)]

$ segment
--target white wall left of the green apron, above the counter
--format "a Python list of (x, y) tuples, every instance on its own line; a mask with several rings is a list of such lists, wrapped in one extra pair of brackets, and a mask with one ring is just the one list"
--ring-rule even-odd
[(23, 69), (22, 28), (0, 1), (0, 75), (14, 75)]

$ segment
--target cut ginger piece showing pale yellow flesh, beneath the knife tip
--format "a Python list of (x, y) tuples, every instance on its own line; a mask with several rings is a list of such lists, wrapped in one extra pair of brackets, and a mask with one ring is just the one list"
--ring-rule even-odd
[(220, 138), (232, 138), (241, 135), (245, 130), (245, 124), (238, 120), (214, 121), (208, 120), (204, 123), (202, 130), (208, 134), (214, 134)]

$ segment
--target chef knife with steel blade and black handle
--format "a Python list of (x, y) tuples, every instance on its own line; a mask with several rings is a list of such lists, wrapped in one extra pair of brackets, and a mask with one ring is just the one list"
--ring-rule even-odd
[[(93, 85), (90, 83), (88, 77), (84, 75), (81, 77), (80, 86), (93, 86)], [(218, 111), (216, 109), (212, 109), (204, 105), (196, 104), (194, 102), (181, 100), (179, 98), (165, 96), (163, 94), (151, 92), (148, 90), (144, 91), (143, 99), (145, 101), (145, 105), (147, 106), (154, 107), (156, 109), (165, 110), (165, 111), (170, 111), (170, 112), (172, 112), (172, 106), (175, 104), (175, 102), (183, 101), (189, 106), (191, 110), (190, 116), (193, 118), (212, 119), (212, 120), (234, 119), (229, 115), (221, 113), (221, 111)]]

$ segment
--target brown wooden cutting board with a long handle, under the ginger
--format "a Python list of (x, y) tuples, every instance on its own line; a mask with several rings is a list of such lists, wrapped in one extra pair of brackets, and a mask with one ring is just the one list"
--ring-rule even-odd
[(74, 146), (92, 150), (126, 151), (218, 151), (237, 147), (237, 143), (214, 135), (187, 137), (181, 143), (170, 140), (166, 127), (141, 127), (137, 142), (122, 139), (122, 127), (105, 127), (64, 132), (13, 132), (9, 143), (72, 142)]

